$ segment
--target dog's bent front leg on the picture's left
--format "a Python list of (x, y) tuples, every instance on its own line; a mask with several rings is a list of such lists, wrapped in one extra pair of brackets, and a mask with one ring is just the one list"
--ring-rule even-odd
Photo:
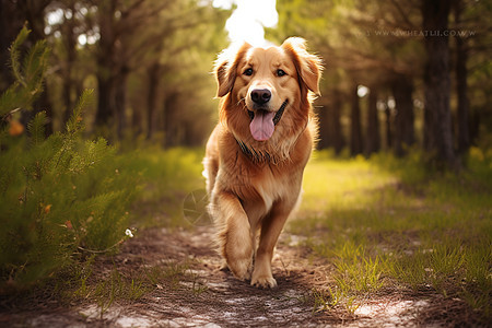
[(248, 280), (253, 268), (253, 235), (239, 199), (231, 192), (213, 197), (213, 216), (218, 225), (220, 251), (239, 280)]

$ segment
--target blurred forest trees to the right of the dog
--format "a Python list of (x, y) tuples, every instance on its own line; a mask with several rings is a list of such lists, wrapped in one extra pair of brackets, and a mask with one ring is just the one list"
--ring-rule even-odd
[(321, 147), (352, 155), (423, 149), (459, 167), (490, 147), (490, 1), (278, 1), (281, 42), (306, 36), (325, 60)]

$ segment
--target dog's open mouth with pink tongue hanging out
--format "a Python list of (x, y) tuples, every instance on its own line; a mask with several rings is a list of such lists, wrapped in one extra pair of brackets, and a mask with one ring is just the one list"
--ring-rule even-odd
[(277, 112), (268, 112), (263, 109), (253, 112), (248, 109), (248, 115), (251, 119), (251, 122), (249, 124), (249, 130), (255, 140), (266, 141), (271, 138), (276, 126), (282, 118), (283, 112), (285, 110), (288, 104), (288, 101), (283, 102), (279, 110)]

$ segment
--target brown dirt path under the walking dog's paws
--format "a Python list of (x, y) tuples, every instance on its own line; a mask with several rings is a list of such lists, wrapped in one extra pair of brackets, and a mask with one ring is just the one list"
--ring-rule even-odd
[[(212, 229), (168, 231), (151, 229), (125, 243), (115, 257), (101, 258), (94, 276), (104, 279), (112, 268), (120, 272), (142, 267), (180, 266), (183, 277), (156, 283), (137, 301), (115, 301), (102, 312), (101, 304), (71, 306), (43, 304), (37, 308), (0, 312), (0, 326), (9, 327), (394, 327), (445, 326), (445, 320), (423, 318), (430, 302), (401, 294), (367, 300), (353, 314), (343, 308), (316, 311), (316, 295), (330, 277), (330, 266), (295, 246), (284, 234), (273, 259), (279, 286), (258, 290), (220, 271), (221, 259), (211, 247)], [(179, 271), (179, 270), (178, 270)], [(183, 272), (181, 272), (183, 273)], [(107, 279), (107, 278), (106, 278)], [(172, 281), (169, 283), (169, 281)]]

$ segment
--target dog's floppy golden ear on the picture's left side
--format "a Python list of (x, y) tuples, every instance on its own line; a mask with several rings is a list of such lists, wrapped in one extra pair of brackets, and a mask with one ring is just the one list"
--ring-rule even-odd
[(232, 91), (236, 80), (237, 66), (250, 47), (249, 44), (244, 43), (239, 48), (225, 49), (219, 55), (214, 69), (218, 97), (223, 97)]

